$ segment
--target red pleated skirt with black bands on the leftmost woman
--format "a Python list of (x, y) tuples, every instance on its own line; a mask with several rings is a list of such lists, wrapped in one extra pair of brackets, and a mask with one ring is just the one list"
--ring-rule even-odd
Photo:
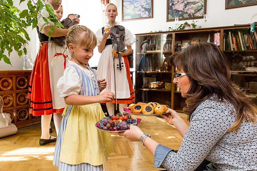
[(62, 113), (64, 110), (53, 109), (47, 52), (48, 42), (43, 42), (29, 80), (28, 98), (31, 98), (30, 113), (33, 116)]

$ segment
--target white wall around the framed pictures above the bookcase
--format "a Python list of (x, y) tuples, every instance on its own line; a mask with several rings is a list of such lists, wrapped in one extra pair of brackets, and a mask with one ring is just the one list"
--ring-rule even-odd
[[(124, 21), (121, 22), (122, 17), (122, 1), (121, 0), (110, 0), (111, 3), (117, 5), (118, 16), (116, 21), (120, 21), (120, 24), (130, 30), (133, 34), (146, 33), (150, 31), (166, 31), (169, 27), (174, 27), (174, 21), (166, 22), (166, 0), (153, 0), (153, 18)], [(247, 24), (250, 23), (252, 15), (257, 13), (257, 5), (249, 7), (241, 7), (234, 9), (225, 10), (225, 0), (207, 0), (207, 21), (206, 27), (221, 27), (221, 26), (232, 26), (234, 24)], [(192, 20), (187, 20), (189, 23)], [(195, 19), (197, 26), (204, 27), (203, 19)], [(184, 21), (179, 21), (179, 24)]]

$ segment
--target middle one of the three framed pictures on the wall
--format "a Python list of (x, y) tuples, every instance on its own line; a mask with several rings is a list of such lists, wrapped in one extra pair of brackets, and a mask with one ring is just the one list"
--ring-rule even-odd
[(201, 19), (206, 14), (206, 0), (167, 0), (166, 21)]

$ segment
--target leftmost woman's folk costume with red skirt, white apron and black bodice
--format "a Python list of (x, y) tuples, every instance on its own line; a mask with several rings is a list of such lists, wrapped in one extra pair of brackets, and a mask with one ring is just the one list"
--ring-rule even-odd
[[(45, 2), (53, 6), (49, 2)], [(48, 12), (43, 9), (41, 15), (48, 17)], [(49, 25), (53, 25), (49, 21)], [(33, 116), (38, 115), (51, 115), (52, 113), (62, 113), (66, 104), (64, 99), (59, 96), (59, 91), (57, 90), (57, 82), (64, 72), (64, 62), (65, 58), (59, 57), (53, 62), (53, 67), (51, 62), (56, 52), (63, 52), (64, 46), (59, 46), (51, 38), (48, 41), (48, 36), (43, 33), (43, 28), (47, 26), (47, 23), (42, 17), (39, 17), (37, 24), (37, 32), (39, 35), (39, 40), (41, 42), (41, 48), (35, 59), (35, 64), (31, 72), (31, 77), (29, 81), (29, 92), (28, 98), (31, 98), (31, 108), (30, 113)], [(69, 52), (65, 52), (70, 55)]]

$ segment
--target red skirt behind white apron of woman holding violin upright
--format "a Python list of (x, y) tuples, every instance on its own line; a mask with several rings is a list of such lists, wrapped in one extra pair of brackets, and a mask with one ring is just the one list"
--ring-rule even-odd
[[(127, 72), (127, 80), (128, 80), (128, 86), (130, 91), (130, 97), (127, 99), (117, 99), (117, 104), (131, 104), (135, 102), (135, 93), (133, 89), (133, 84), (130, 77), (130, 70), (129, 70), (129, 63), (128, 63), (128, 57), (123, 56), (124, 58), (124, 64), (126, 66), (126, 72)], [(117, 86), (117, 85), (116, 85)], [(104, 103), (107, 103), (109, 101), (105, 101)], [(111, 101), (112, 103), (115, 103), (115, 99)]]

